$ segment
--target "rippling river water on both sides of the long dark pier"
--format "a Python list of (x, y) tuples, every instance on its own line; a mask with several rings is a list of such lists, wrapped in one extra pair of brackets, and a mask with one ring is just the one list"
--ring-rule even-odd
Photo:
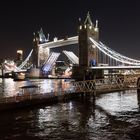
[[(0, 79), (0, 98), (36, 84), (41, 93), (70, 90), (67, 81)], [(140, 93), (127, 90), (11, 110), (0, 114), (0, 140), (137, 140), (140, 139)]]

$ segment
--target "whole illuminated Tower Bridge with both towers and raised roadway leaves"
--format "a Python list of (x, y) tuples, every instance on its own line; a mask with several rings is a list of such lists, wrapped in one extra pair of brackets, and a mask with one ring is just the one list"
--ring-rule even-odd
[[(49, 41), (43, 30), (34, 34), (34, 48), (17, 67), (21, 70), (33, 56), (33, 66), (42, 71), (51, 71), (54, 63), (62, 54), (73, 64), (73, 75), (85, 75), (86, 71), (105, 69), (139, 69), (140, 60), (126, 57), (103, 44), (99, 39), (98, 21), (92, 22), (88, 13), (85, 20), (79, 21), (78, 34), (58, 40)], [(69, 49), (69, 48), (73, 49)], [(61, 51), (60, 49), (61, 48)], [(33, 53), (32, 53), (33, 52)], [(40, 70), (40, 71), (41, 71)]]

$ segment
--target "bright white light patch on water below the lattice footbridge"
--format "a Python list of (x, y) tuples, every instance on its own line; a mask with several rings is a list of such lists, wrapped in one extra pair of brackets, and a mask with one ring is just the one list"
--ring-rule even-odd
[(123, 91), (114, 92), (113, 94), (101, 95), (97, 101), (99, 106), (103, 109), (115, 115), (116, 113), (122, 113), (127, 111), (137, 111), (138, 100), (137, 91)]

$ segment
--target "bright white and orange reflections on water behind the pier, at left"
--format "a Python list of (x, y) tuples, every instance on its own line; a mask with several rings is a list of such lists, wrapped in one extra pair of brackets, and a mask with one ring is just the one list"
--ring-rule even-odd
[(0, 79), (0, 97), (15, 96), (20, 92), (20, 87), (38, 85), (39, 93), (48, 93), (58, 90), (69, 90), (70, 84), (65, 80), (31, 79), (27, 81), (13, 81), (11, 78)]

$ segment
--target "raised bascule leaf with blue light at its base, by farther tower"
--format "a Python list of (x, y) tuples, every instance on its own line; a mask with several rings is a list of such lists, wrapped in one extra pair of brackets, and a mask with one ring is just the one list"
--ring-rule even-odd
[(44, 63), (42, 70), (45, 73), (48, 73), (52, 70), (53, 68), (53, 64), (56, 62), (56, 60), (58, 59), (60, 53), (56, 53), (56, 52), (52, 52), (48, 59), (46, 60), (46, 62)]

